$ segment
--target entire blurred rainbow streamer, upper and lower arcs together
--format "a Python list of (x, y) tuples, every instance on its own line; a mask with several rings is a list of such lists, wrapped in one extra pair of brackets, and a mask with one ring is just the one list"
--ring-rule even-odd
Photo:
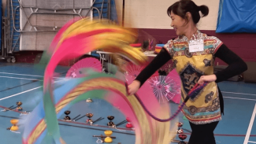
[[(70, 105), (85, 100), (91, 95), (97, 95), (119, 106), (121, 111), (131, 118), (135, 126), (136, 144), (169, 143), (169, 123), (161, 123), (151, 118), (135, 96), (126, 97), (125, 83), (116, 76), (89, 72), (87, 77), (69, 79), (69, 82), (56, 90), (52, 86), (54, 70), (59, 62), (80, 57), (92, 50), (102, 49), (122, 54), (137, 65), (145, 64), (147, 57), (129, 46), (130, 43), (135, 42), (136, 36), (134, 31), (109, 25), (106, 20), (83, 19), (66, 24), (47, 51), (50, 61), (44, 75), (43, 102), (40, 102), (24, 124), (23, 143), (40, 143), (46, 135), (53, 138), (55, 143), (65, 143), (60, 135), (58, 117)], [(58, 92), (61, 90), (65, 93)], [(150, 100), (146, 106), (155, 116), (163, 119), (169, 117), (169, 110), (166, 110), (169, 108), (165, 107), (163, 110), (154, 95), (147, 95), (147, 98), (142, 99)], [(154, 106), (150, 105), (152, 102)]]

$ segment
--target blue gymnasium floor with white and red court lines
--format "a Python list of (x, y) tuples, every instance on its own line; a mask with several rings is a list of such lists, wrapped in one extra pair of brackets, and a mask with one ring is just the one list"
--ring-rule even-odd
[[(0, 62), (0, 109), (4, 107), (16, 106), (16, 102), (23, 102), (25, 111), (32, 111), (35, 105), (39, 102), (38, 94), (41, 92), (43, 83), (43, 71), (35, 71), (32, 64), (7, 64)], [(58, 67), (56, 72), (61, 73), (62, 77), (68, 71), (67, 67)], [(56, 84), (61, 82), (61, 78), (55, 79)], [(222, 82), (219, 83), (224, 95), (224, 116), (218, 124), (215, 131), (217, 144), (247, 144), (256, 143), (256, 84), (254, 83), (235, 83)], [(105, 119), (98, 121), (96, 124), (106, 126), (109, 121), (107, 116), (113, 115), (115, 124), (125, 120), (125, 116), (114, 109), (103, 100), (93, 99), (94, 102), (86, 103), (79, 102), (70, 108), (70, 117), (76, 117), (79, 114), (83, 116), (86, 113), (94, 113), (93, 120), (103, 117)], [(77, 110), (80, 109), (80, 110)], [(21, 143), (21, 135), (7, 131), (10, 127), (9, 120), (16, 119), (20, 113), (13, 111), (0, 112), (0, 138), (1, 144), (19, 144)], [(64, 117), (63, 114), (62, 117)], [(182, 119), (180, 113), (180, 121), (184, 123), (184, 128), (190, 130), (187, 120)], [(61, 136), (69, 143), (96, 143), (97, 138), (92, 135), (104, 135), (104, 131), (109, 129), (106, 127), (87, 126), (84, 124), (87, 117), (77, 120), (75, 123), (59, 122), (61, 128)], [(132, 144), (135, 142), (135, 133), (129, 129), (125, 129), (125, 124), (119, 128), (122, 130), (113, 131), (114, 144)], [(185, 133), (187, 131), (184, 131)], [(187, 139), (189, 134), (187, 134)], [(176, 138), (178, 139), (178, 138)], [(185, 140), (185, 141), (186, 141)], [(46, 140), (43, 143), (48, 143)], [(172, 144), (175, 142), (172, 142)]]

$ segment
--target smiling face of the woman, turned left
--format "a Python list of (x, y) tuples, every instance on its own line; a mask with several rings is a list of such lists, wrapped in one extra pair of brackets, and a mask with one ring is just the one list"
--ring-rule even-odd
[(171, 12), (171, 18), (172, 18), (171, 26), (176, 31), (176, 35), (184, 35), (184, 31), (187, 26), (187, 24), (185, 24), (186, 20), (174, 14), (173, 11)]

